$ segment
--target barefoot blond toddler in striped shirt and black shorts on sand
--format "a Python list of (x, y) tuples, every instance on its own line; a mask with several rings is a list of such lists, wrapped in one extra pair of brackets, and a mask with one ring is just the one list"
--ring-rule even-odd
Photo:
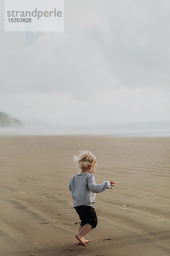
[(96, 157), (90, 151), (79, 151), (79, 155), (74, 155), (74, 163), (79, 167), (79, 172), (71, 177), (68, 188), (73, 198), (73, 208), (76, 209), (81, 220), (76, 238), (79, 240), (79, 244), (85, 246), (85, 243), (88, 243), (85, 235), (98, 223), (94, 207), (96, 193), (113, 189), (111, 186), (115, 186), (115, 182), (112, 180), (96, 184), (93, 175), (97, 166)]

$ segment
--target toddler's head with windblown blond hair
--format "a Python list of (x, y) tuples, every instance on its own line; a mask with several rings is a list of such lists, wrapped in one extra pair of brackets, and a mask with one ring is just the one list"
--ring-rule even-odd
[[(73, 157), (73, 162), (81, 170), (87, 169), (91, 165), (96, 165), (96, 157), (90, 151), (82, 150), (79, 151), (79, 154)], [(97, 166), (97, 165), (96, 165)]]

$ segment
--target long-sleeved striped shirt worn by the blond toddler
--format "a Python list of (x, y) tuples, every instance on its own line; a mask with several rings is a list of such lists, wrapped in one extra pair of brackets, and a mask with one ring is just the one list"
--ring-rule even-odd
[(101, 184), (96, 184), (93, 174), (89, 172), (77, 172), (71, 177), (68, 188), (73, 198), (73, 207), (79, 205), (90, 205), (94, 207), (96, 193), (110, 189), (111, 183), (104, 181)]

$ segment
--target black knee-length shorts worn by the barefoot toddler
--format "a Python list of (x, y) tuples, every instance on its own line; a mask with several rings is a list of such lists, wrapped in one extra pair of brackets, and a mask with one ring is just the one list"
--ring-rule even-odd
[(95, 209), (88, 205), (80, 205), (75, 207), (77, 214), (79, 215), (79, 219), (81, 220), (80, 226), (84, 226), (85, 224), (90, 224), (91, 229), (97, 226), (97, 215)]

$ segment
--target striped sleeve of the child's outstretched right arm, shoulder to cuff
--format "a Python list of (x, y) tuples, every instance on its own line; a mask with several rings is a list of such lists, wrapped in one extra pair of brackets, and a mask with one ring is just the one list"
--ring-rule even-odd
[(88, 180), (88, 187), (89, 189), (94, 193), (101, 193), (105, 191), (106, 189), (111, 189), (111, 183), (110, 181), (104, 181), (101, 184), (96, 184), (94, 175), (91, 175)]

